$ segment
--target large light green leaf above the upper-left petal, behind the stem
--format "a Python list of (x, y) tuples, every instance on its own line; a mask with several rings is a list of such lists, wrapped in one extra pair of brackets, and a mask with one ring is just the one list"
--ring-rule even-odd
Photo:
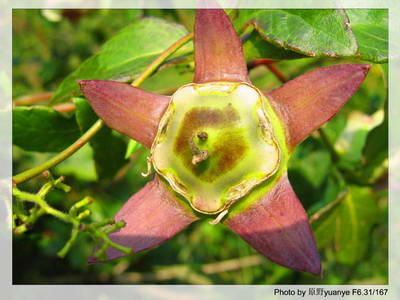
[[(144, 18), (125, 27), (107, 41), (98, 54), (64, 79), (52, 101), (61, 102), (79, 95), (77, 79), (128, 81), (134, 78), (186, 33), (183, 26), (157, 18)], [(185, 45), (173, 57), (188, 53), (190, 49), (190, 45)]]

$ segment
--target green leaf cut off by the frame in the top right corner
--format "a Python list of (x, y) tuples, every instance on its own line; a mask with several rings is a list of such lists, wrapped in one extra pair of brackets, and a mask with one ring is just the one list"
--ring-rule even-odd
[(364, 60), (385, 63), (388, 60), (387, 9), (348, 9), (346, 13)]

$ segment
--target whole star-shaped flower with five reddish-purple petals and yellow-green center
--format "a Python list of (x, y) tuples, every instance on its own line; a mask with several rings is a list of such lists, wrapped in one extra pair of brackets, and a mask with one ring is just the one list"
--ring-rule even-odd
[[(228, 16), (199, 9), (194, 83), (172, 97), (129, 84), (80, 81), (97, 115), (151, 148), (153, 180), (115, 216), (110, 238), (139, 252), (215, 215), (270, 260), (321, 274), (307, 214), (287, 177), (293, 149), (331, 119), (369, 65), (319, 68), (263, 95), (248, 77)], [(122, 256), (115, 249), (109, 259)]]

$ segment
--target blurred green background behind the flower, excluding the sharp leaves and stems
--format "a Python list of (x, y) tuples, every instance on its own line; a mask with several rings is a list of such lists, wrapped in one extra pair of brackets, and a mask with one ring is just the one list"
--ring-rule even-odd
[[(232, 16), (234, 14), (231, 14)], [(14, 10), (13, 98), (15, 105), (49, 101), (63, 79), (125, 26), (144, 17), (182, 24), (191, 31), (192, 10)], [(246, 47), (245, 47), (246, 50)], [(264, 64), (246, 52), (252, 82), (262, 90), (280, 86)], [(279, 60), (274, 67), (286, 79), (316, 67), (361, 61), (343, 58)], [(171, 94), (193, 78), (193, 58), (162, 68), (142, 85)], [(387, 65), (374, 64), (361, 88), (323, 131), (315, 132), (294, 152), (289, 179), (306, 208), (317, 239), (324, 276), (295, 272), (263, 258), (223, 225), (208, 220), (190, 225), (156, 249), (116, 261), (88, 265), (94, 242), (80, 235), (65, 259), (57, 252), (69, 238), (70, 225), (51, 216), (13, 238), (14, 284), (387, 284)], [(25, 101), (25, 102), (24, 102)], [(31, 101), (32, 102), (32, 101)], [(72, 112), (66, 115), (73, 118)], [(14, 137), (15, 138), (15, 137)], [(124, 139), (128, 144), (128, 139)], [(67, 211), (92, 196), (91, 219), (113, 217), (149, 178), (148, 151), (136, 145), (112, 178), (99, 178), (89, 145), (55, 167), (72, 191), (52, 191), (48, 202)], [(54, 153), (13, 147), (13, 174), (32, 168)], [(19, 187), (36, 192), (35, 178)]]

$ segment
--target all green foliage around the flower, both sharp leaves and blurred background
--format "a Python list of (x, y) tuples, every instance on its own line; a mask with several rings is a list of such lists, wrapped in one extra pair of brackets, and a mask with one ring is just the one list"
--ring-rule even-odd
[[(387, 39), (387, 12), (347, 12), (350, 21), (354, 22), (353, 34), (342, 32), (340, 28), (335, 31), (333, 25), (342, 18), (342, 12), (337, 11), (316, 11), (314, 15), (307, 15), (301, 10), (246, 10), (229, 11), (229, 14), (245, 39), (248, 61), (279, 59), (276, 65), (287, 79), (320, 66), (365, 61), (379, 63), (373, 65), (348, 104), (323, 127), (324, 136), (321, 138), (319, 133), (310, 136), (297, 147), (289, 164), (289, 179), (311, 217), (324, 277), (295, 272), (261, 258), (223, 225), (211, 226), (208, 220), (190, 225), (156, 249), (96, 265), (86, 263), (94, 244), (82, 235), (68, 256), (60, 259), (56, 254), (68, 239), (70, 226), (44, 216), (30, 231), (14, 235), (15, 284), (388, 282), (388, 67), (384, 41), (385, 34)], [(143, 21), (149, 16), (152, 18)], [(13, 148), (14, 174), (54, 156), (54, 152), (67, 147), (95, 121), (83, 98), (72, 99), (79, 96), (75, 78), (134, 79), (163, 49), (192, 30), (193, 17), (193, 10), (14, 10), (13, 97), (55, 92), (51, 102), (42, 103), (46, 108), (18, 107), (14, 110), (13, 141), (17, 145)], [(315, 39), (302, 45), (301, 39), (298, 42), (295, 37), (292, 42), (296, 47), (290, 41), (287, 43), (286, 29), (291, 32), (294, 29), (273, 27), (277, 24), (275, 19), (279, 21), (282, 17), (293, 20), (293, 28), (316, 32)], [(249, 20), (257, 24), (256, 31), (243, 27)], [(327, 24), (326, 20), (332, 23)], [(335, 57), (330, 49), (323, 47), (329, 44), (323, 34), (328, 25), (333, 26), (330, 28), (333, 34), (339, 32), (344, 39), (332, 46), (337, 50)], [(147, 40), (143, 47), (140, 41), (139, 45), (121, 44), (121, 35), (116, 36), (120, 31), (136, 38), (142, 35)], [(182, 48), (173, 60), (146, 80), (142, 88), (170, 94), (190, 82), (193, 76), (191, 47), (188, 44)], [(100, 54), (81, 66), (99, 51)], [(102, 68), (102, 63), (110, 64), (107, 60), (118, 61), (114, 71)], [(75, 73), (70, 75), (72, 72)], [(263, 90), (281, 84), (265, 66), (252, 69), (250, 76)], [(71, 81), (66, 82), (69, 78)], [(48, 108), (72, 100), (77, 107), (76, 113), (60, 114)], [(34, 118), (26, 123), (28, 115), (34, 115)], [(55, 132), (49, 132), (46, 125)], [(57, 132), (57, 126), (60, 132)], [(67, 135), (63, 132), (65, 128), (69, 129)], [(128, 144), (130, 155), (125, 157)], [(90, 207), (91, 219), (101, 221), (113, 217), (128, 197), (149, 180), (140, 175), (146, 170), (147, 154), (140, 145), (104, 128), (90, 145), (52, 170), (57, 176), (66, 176), (72, 191), (69, 194), (52, 191), (48, 201), (65, 211), (83, 197), (92, 196), (95, 202)], [(110, 160), (110, 157), (115, 159)], [(36, 178), (19, 187), (35, 192), (43, 183), (44, 179)]]

